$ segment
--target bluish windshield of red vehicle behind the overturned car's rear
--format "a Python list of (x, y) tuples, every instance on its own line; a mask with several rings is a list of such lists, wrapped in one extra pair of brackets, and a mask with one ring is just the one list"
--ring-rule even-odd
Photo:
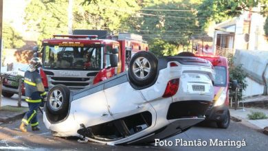
[(215, 86), (226, 86), (226, 82), (227, 82), (226, 67), (215, 66), (214, 69), (216, 72), (214, 85)]

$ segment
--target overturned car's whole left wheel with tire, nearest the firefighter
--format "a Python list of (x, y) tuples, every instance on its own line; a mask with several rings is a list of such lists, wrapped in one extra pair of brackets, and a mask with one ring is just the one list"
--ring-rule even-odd
[(59, 84), (49, 90), (47, 94), (47, 109), (54, 115), (66, 113), (69, 107), (70, 91), (67, 86)]

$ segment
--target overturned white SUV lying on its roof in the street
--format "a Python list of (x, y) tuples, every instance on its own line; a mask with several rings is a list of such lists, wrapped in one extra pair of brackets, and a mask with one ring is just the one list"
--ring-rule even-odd
[(188, 130), (205, 119), (214, 97), (214, 69), (201, 58), (157, 59), (141, 51), (129, 71), (71, 92), (47, 95), (45, 126), (58, 137), (108, 144), (150, 143)]

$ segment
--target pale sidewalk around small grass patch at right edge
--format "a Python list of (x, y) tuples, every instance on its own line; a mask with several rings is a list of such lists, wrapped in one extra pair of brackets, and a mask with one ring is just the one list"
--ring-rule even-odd
[(263, 130), (263, 128), (268, 126), (268, 119), (256, 119), (252, 120), (247, 117), (248, 114), (251, 112), (262, 112), (265, 113), (265, 115), (268, 116), (268, 110), (263, 108), (244, 108), (234, 110), (233, 108), (230, 108), (230, 115), (233, 119), (240, 119), (241, 121), (247, 121), (250, 124), (253, 124), (256, 126), (256, 129)]

